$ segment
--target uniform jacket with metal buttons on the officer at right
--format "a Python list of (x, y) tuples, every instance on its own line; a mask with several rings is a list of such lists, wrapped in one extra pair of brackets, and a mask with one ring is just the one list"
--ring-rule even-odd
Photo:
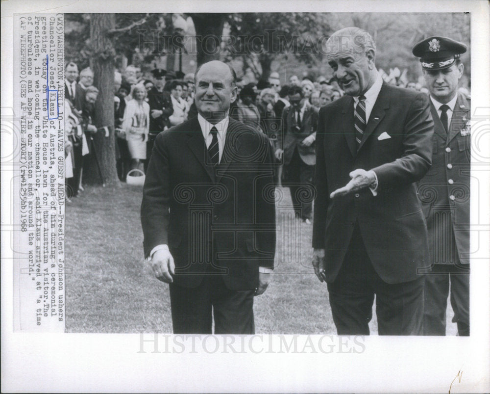
[(469, 263), (471, 135), (466, 123), (470, 119), (470, 101), (458, 94), (448, 133), (432, 101), (431, 113), (432, 167), (418, 189), (429, 231), (431, 262)]

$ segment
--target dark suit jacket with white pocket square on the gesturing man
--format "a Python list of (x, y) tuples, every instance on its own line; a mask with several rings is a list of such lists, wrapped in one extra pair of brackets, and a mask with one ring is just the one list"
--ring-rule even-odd
[[(427, 95), (383, 83), (358, 151), (354, 99), (344, 96), (320, 109), (313, 247), (325, 249), (328, 282), (337, 277), (356, 221), (378, 275), (387, 283), (417, 279), (428, 265), (425, 218), (417, 184), (431, 165), (434, 123)], [(382, 133), (391, 138), (381, 139)], [(369, 188), (331, 200), (356, 169), (374, 170)]]

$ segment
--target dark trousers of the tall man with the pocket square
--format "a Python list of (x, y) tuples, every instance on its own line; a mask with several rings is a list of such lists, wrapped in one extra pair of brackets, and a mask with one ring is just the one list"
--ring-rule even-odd
[(424, 279), (384, 282), (372, 266), (356, 222), (339, 274), (327, 284), (338, 335), (369, 335), (374, 295), (379, 335), (422, 335)]

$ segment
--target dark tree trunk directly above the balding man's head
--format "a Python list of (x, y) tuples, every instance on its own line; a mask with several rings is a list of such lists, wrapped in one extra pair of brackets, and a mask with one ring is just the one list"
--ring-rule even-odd
[(189, 14), (196, 28), (197, 67), (211, 60), (219, 60), (224, 14)]

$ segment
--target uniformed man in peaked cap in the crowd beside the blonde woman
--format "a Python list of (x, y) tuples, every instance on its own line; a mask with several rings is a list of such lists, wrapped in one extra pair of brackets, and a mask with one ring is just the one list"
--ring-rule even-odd
[(160, 131), (170, 127), (169, 117), (173, 113), (172, 99), (170, 93), (164, 90), (166, 70), (155, 69), (153, 74), (155, 85), (148, 91), (148, 104), (150, 106), (150, 130), (147, 142), (147, 160), (145, 172), (149, 162), (153, 143)]

